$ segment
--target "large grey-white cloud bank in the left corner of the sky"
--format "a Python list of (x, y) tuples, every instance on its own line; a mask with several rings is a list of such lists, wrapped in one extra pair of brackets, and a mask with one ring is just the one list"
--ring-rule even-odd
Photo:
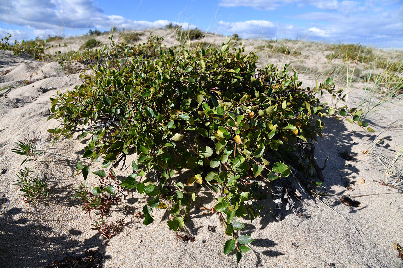
[[(0, 5), (0, 21), (25, 27), (15, 31), (17, 38), (27, 36), (61, 35), (67, 30), (120, 29), (141, 30), (164, 27), (170, 21), (131, 21), (123, 16), (104, 14), (93, 0), (5, 0)], [(195, 28), (188, 23), (177, 23)], [(3, 30), (4, 31), (4, 30)]]

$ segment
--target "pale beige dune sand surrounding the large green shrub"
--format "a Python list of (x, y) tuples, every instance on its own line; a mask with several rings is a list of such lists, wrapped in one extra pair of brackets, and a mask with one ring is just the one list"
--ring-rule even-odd
[[(172, 45), (174, 42), (168, 36), (167, 45)], [(258, 42), (249, 41), (248, 46), (251, 49)], [(302, 50), (297, 60), (321, 67), (326, 62), (326, 53), (310, 57), (312, 49)], [(266, 61), (264, 56), (261, 64)], [(281, 64), (283, 60), (282, 56), (270, 55), (270, 62)], [(141, 211), (144, 199), (130, 193), (126, 202), (116, 208), (120, 211), (113, 211), (108, 218), (110, 221), (124, 218), (125, 227), (118, 235), (106, 239), (91, 230), (93, 221), (83, 213), (79, 202), (71, 200), (72, 188), (83, 182), (81, 176), (73, 175), (87, 140), (72, 138), (60, 140), (54, 146), (44, 144), (58, 156), (39, 156), (37, 162), (26, 166), (48, 178), (50, 196), (41, 202), (24, 203), (18, 187), (11, 184), (24, 159), (11, 152), (14, 142), (28, 134), (32, 136), (33, 131), (46, 140), (49, 136), (46, 130), (60, 124), (56, 120), (46, 121), (49, 97), (55, 91), (43, 93), (41, 87), (56, 87), (64, 92), (81, 81), (79, 74), (66, 75), (57, 62), (39, 62), (9, 51), (0, 51), (0, 74), (0, 88), (30, 81), (0, 97), (0, 170), (6, 170), (0, 175), (1, 267), (44, 267), (65, 256), (81, 254), (84, 249), (98, 249), (103, 267), (236, 267), (235, 256), (222, 253), (229, 237), (224, 234), (218, 214), (192, 210), (185, 218), (186, 229), (178, 233), (190, 235), (195, 241), (182, 241), (168, 229), (169, 215), (164, 210), (156, 210), (154, 223), (142, 225), (142, 219), (138, 220), (134, 213)], [(314, 84), (315, 77), (300, 75), (300, 78), (304, 85)], [(357, 90), (349, 96), (351, 105), (362, 94), (362, 85), (355, 86)], [(367, 122), (374, 133), (355, 128), (347, 121), (324, 120), (323, 139), (316, 144), (315, 151), (320, 165), (330, 155), (323, 172), (324, 187), (329, 194), (384, 195), (355, 198), (361, 202), (357, 208), (345, 206), (337, 198), (322, 198), (321, 202), (304, 195), (298, 205), (305, 217), (284, 212), (283, 220), (278, 222), (272, 216), (270, 183), (262, 182), (268, 193), (268, 198), (260, 201), (265, 205), (262, 217), (252, 223), (240, 220), (246, 225), (240, 234), (251, 235), (255, 241), (251, 243), (252, 250), (243, 254), (239, 267), (401, 267), (393, 243), (403, 244), (402, 194), (391, 194), (397, 190), (374, 181), (384, 179), (382, 169), (377, 167), (376, 154), (392, 154), (395, 146), (403, 144), (401, 124), (387, 133), (392, 138), (375, 146), (371, 154), (363, 153), (391, 122), (403, 119), (403, 108), (392, 106), (368, 115)], [(356, 161), (341, 158), (339, 153), (345, 151)], [(127, 163), (135, 158), (130, 155)], [(120, 178), (127, 175), (125, 169), (116, 171)], [(359, 183), (361, 179), (365, 183)], [(95, 185), (96, 176), (90, 174), (87, 181)], [(345, 187), (349, 182), (354, 183), (350, 184), (350, 190)], [(199, 195), (204, 206), (214, 205), (210, 192), (202, 189)], [(216, 227), (216, 231), (209, 232), (209, 225)]]

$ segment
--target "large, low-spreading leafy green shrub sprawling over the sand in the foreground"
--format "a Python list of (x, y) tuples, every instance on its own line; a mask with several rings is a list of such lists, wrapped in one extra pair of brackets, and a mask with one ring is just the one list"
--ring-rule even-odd
[[(154, 221), (155, 209), (168, 209), (168, 226), (177, 231), (185, 214), (200, 207), (195, 185), (214, 192), (214, 211), (230, 237), (224, 254), (236, 249), (238, 263), (253, 239), (239, 235), (245, 225), (237, 219), (259, 216), (259, 181), (288, 177), (291, 167), (307, 177), (314, 169), (320, 173), (306, 149), (322, 135), (320, 118), (347, 112), (336, 115), (316, 93), (343, 99), (342, 92), (334, 92), (331, 78), (301, 89), (297, 73), (290, 76), (287, 66), (257, 69), (258, 56), (244, 48), (173, 51), (159, 41), (141, 46), (151, 52), (148, 57), (138, 54), (141, 49), (112, 45), (108, 68), (91, 67), (92, 75), (81, 76), (83, 85), (51, 98), (54, 114), (48, 119), (64, 123), (48, 132), (55, 139), (91, 134), (83, 153), (91, 164), (77, 166), (84, 179), (93, 163), (110, 169), (94, 172), (102, 177), (137, 153), (121, 186), (144, 196), (145, 225)], [(178, 175), (184, 170), (186, 178)]]

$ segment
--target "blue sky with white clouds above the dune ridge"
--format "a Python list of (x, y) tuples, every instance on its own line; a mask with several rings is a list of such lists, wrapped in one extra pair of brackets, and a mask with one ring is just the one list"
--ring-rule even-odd
[(403, 47), (396, 0), (0, 0), (0, 35), (17, 39), (169, 22), (243, 38), (261, 38), (263, 30), (265, 38)]

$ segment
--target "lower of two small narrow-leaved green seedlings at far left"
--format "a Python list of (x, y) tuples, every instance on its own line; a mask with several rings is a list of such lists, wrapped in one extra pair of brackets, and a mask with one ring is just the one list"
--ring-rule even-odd
[(34, 171), (30, 170), (27, 167), (24, 169), (19, 169), (17, 173), (18, 179), (13, 181), (13, 185), (19, 185), (19, 190), (23, 192), (21, 196), (23, 196), (23, 200), (25, 203), (31, 203), (35, 199), (41, 196), (48, 196), (48, 184), (46, 179), (43, 179), (42, 176), (32, 177), (30, 174), (34, 173)]

